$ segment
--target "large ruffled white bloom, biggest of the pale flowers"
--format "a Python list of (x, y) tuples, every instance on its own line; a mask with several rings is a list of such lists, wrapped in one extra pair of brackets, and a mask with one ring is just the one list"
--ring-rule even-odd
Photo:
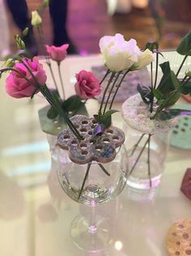
[(100, 51), (104, 56), (104, 64), (112, 72), (120, 72), (131, 67), (142, 54), (137, 41), (125, 41), (121, 34), (114, 37), (104, 36), (100, 39)]

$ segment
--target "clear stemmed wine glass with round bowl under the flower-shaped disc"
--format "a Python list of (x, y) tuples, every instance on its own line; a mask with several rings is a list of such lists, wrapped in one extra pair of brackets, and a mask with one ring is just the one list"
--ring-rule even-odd
[[(95, 206), (108, 202), (121, 193), (125, 187), (128, 167), (124, 145), (117, 149), (116, 157), (109, 163), (74, 163), (70, 160), (68, 151), (62, 150), (62, 161), (57, 168), (62, 189), (75, 202), (91, 206), (89, 218), (78, 215), (71, 224), (72, 240), (80, 249), (97, 252), (112, 241), (109, 218), (96, 215)], [(87, 179), (83, 186), (85, 176)]]

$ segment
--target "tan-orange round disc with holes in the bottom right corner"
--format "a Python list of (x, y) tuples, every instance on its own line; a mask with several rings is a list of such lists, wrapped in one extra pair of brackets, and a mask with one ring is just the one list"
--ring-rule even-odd
[(167, 249), (170, 256), (191, 255), (191, 219), (180, 219), (168, 230)]

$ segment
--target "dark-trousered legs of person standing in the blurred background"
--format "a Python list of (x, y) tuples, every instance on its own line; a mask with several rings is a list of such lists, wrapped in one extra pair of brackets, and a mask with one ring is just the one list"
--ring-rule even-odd
[[(18, 28), (23, 31), (28, 27), (29, 32), (23, 41), (26, 44), (26, 49), (30, 54), (36, 55), (38, 49), (36, 40), (33, 34), (31, 20), (28, 15), (28, 6), (26, 0), (5, 0), (6, 5), (11, 11), (11, 15)], [(67, 21), (67, 0), (49, 0), (49, 14), (53, 23), (53, 46), (62, 46), (68, 43), (68, 54), (78, 54), (78, 50), (73, 45), (66, 29)]]

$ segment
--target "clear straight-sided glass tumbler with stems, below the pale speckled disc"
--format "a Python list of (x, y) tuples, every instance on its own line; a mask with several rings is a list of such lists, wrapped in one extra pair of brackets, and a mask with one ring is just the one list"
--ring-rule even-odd
[(127, 184), (134, 189), (154, 189), (160, 184), (163, 173), (169, 132), (151, 135), (132, 129), (128, 124), (124, 124), (124, 128), (128, 131), (125, 142), (129, 157)]

